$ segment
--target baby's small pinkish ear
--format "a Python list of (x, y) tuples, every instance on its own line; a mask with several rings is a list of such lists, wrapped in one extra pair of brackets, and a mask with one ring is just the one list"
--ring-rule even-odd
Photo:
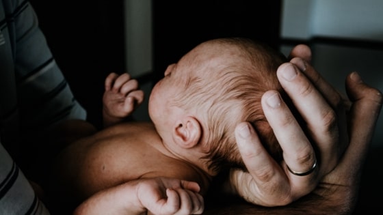
[(202, 134), (200, 121), (190, 116), (177, 121), (173, 131), (174, 142), (185, 149), (196, 146)]

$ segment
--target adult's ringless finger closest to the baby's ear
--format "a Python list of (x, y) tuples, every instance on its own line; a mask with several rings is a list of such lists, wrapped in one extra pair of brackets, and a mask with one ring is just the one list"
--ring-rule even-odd
[(248, 173), (241, 170), (230, 172), (230, 182), (238, 194), (259, 205), (274, 206), (291, 202), (289, 182), (285, 173), (269, 156), (252, 126), (248, 122), (238, 124), (235, 138), (248, 169)]

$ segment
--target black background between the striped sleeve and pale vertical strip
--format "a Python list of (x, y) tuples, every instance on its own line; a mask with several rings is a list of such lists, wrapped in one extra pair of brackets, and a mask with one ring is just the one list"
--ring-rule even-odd
[(101, 126), (105, 77), (125, 71), (123, 1), (30, 2), (75, 97)]

